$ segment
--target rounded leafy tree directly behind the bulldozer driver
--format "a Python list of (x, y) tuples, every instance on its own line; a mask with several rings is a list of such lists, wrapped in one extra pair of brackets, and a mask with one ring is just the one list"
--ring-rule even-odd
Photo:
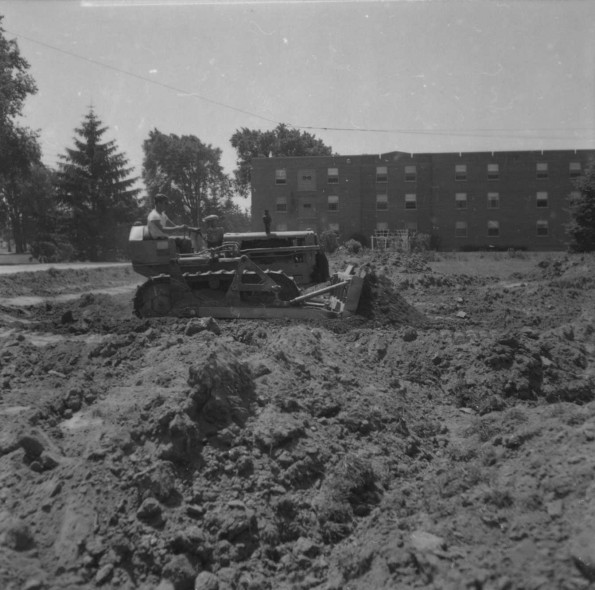
[(194, 135), (166, 135), (154, 129), (143, 149), (143, 179), (149, 196), (167, 195), (177, 219), (198, 226), (206, 215), (226, 209), (231, 183), (221, 166), (219, 148)]

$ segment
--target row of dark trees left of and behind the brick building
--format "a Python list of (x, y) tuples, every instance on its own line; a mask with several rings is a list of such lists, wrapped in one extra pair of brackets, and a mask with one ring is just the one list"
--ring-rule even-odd
[[(331, 153), (314, 136), (282, 124), (273, 131), (243, 128), (230, 139), (238, 154), (230, 176), (221, 149), (195, 135), (153, 129), (143, 142), (139, 178), (89, 108), (73, 146), (52, 169), (42, 162), (39, 133), (18, 122), (37, 86), (2, 20), (0, 15), (0, 233), (16, 253), (48, 261), (123, 257), (130, 225), (146, 219), (158, 193), (169, 197), (168, 214), (180, 224), (199, 226), (215, 214), (228, 231), (248, 230), (250, 215), (233, 197), (249, 195), (253, 157)], [(138, 188), (141, 180), (145, 191)]]

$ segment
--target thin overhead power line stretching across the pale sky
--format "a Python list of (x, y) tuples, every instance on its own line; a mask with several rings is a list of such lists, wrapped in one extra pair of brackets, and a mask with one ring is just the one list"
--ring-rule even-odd
[[(238, 113), (242, 113), (244, 115), (248, 115), (250, 117), (255, 117), (261, 119), (263, 121), (267, 121), (268, 123), (273, 123), (275, 125), (280, 125), (283, 122), (277, 121), (275, 119), (271, 119), (269, 117), (265, 117), (263, 115), (259, 115), (253, 111), (248, 111), (246, 109), (241, 109), (239, 107), (235, 107), (233, 105), (208, 98), (202, 94), (196, 92), (189, 92), (187, 90), (183, 90), (178, 88), (177, 86), (173, 86), (171, 84), (166, 84), (164, 82), (160, 82), (159, 80), (154, 80), (151, 78), (147, 78), (146, 76), (142, 76), (140, 74), (136, 74), (134, 72), (129, 72), (127, 70), (123, 70), (122, 68), (118, 68), (116, 66), (112, 66), (101, 62), (99, 60), (86, 57), (75, 53), (73, 51), (68, 51), (66, 49), (61, 49), (49, 43), (45, 43), (43, 41), (39, 41), (37, 39), (33, 39), (28, 37), (27, 35), (22, 35), (20, 33), (15, 33), (13, 31), (9, 31), (5, 29), (5, 31), (11, 35), (15, 35), (16, 37), (20, 37), (25, 39), (31, 43), (35, 43), (37, 45), (41, 45), (42, 47), (46, 47), (47, 49), (51, 49), (52, 51), (57, 51), (59, 53), (63, 53), (75, 59), (80, 59), (82, 61), (86, 61), (88, 63), (100, 66), (102, 68), (106, 68), (108, 70), (112, 70), (119, 74), (123, 74), (125, 76), (130, 76), (131, 78), (135, 78), (137, 80), (141, 80), (143, 82), (147, 82), (148, 84), (154, 84), (156, 86), (160, 86), (161, 88), (165, 88), (167, 90), (171, 90), (176, 92), (177, 94), (184, 94), (187, 96), (191, 96), (193, 98), (198, 98), (199, 100), (203, 100), (205, 102), (217, 105), (219, 107), (229, 109)], [(365, 128), (365, 127), (330, 127), (330, 126), (314, 126), (314, 125), (295, 125), (293, 123), (285, 123), (288, 127), (293, 129), (301, 129), (301, 130), (309, 130), (309, 131), (338, 131), (338, 132), (348, 132), (348, 133), (382, 133), (382, 134), (401, 134), (401, 135), (429, 135), (429, 136), (448, 136), (448, 137), (469, 137), (469, 138), (491, 138), (491, 139), (549, 139), (549, 140), (559, 140), (559, 141), (568, 141), (571, 139), (579, 139), (577, 137), (560, 137), (558, 135), (531, 135), (530, 137), (526, 135), (519, 135), (520, 132), (526, 133), (541, 133), (541, 132), (572, 132), (572, 131), (581, 131), (585, 133), (594, 133), (595, 129), (585, 129), (582, 127), (573, 127), (573, 128), (565, 128), (565, 129), (557, 129), (557, 128), (540, 128), (540, 129), (488, 129), (488, 128), (477, 128), (473, 132), (462, 132), (457, 130), (450, 130), (450, 129), (442, 129), (440, 131), (433, 131), (427, 129), (403, 129), (403, 128), (396, 128), (396, 129), (376, 129), (376, 128)], [(489, 133), (477, 133), (480, 132), (489, 132)], [(583, 137), (580, 139), (593, 139), (592, 137)]]

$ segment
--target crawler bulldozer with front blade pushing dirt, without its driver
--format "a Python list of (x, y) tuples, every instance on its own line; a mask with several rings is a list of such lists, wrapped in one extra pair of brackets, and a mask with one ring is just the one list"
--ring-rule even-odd
[(130, 230), (132, 268), (148, 280), (137, 288), (138, 317), (337, 318), (356, 313), (365, 272), (329, 274), (315, 232), (227, 233), (223, 243), (180, 253), (174, 238)]

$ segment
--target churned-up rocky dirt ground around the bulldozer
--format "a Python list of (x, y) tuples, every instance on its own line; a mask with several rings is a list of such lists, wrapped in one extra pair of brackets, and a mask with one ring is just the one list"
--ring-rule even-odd
[(2, 277), (0, 587), (595, 582), (595, 258), (338, 254), (346, 320), (140, 320)]

